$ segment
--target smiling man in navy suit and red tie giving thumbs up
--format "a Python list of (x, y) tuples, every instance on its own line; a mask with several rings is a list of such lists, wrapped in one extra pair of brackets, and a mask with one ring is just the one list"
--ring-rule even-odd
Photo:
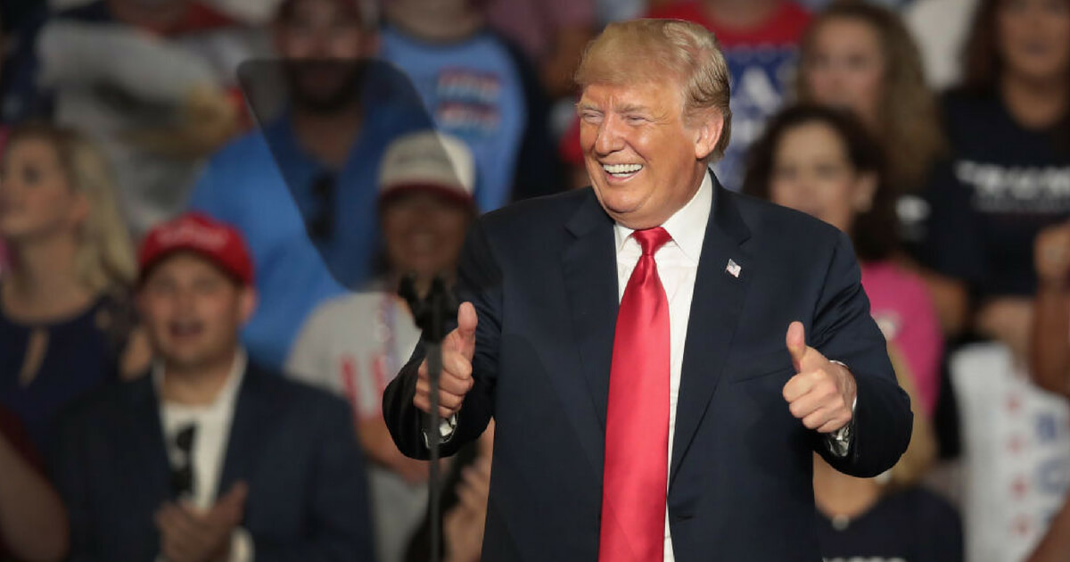
[[(713, 35), (609, 26), (577, 73), (592, 186), (469, 234), (444, 343), (444, 454), (495, 420), (482, 560), (821, 560), (812, 453), (873, 476), (910, 441), (850, 241), (725, 191)], [(384, 396), (426, 457), (424, 346)]]

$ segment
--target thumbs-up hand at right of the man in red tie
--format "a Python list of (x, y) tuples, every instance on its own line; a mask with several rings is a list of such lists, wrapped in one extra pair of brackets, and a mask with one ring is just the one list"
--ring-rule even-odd
[(786, 344), (796, 373), (783, 390), (792, 415), (802, 420), (807, 428), (822, 434), (847, 425), (857, 392), (854, 376), (843, 365), (828, 361), (806, 345), (801, 322), (788, 326)]

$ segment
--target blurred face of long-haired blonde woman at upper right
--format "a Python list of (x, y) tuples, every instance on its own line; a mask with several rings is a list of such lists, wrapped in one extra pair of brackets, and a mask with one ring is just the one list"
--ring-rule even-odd
[(801, 65), (815, 103), (847, 108), (868, 124), (877, 122), (884, 70), (877, 31), (846, 17), (821, 24)]

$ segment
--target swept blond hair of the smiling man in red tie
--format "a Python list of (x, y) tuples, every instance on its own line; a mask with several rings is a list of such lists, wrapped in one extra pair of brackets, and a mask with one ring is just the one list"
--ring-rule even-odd
[(587, 44), (576, 71), (576, 83), (658, 82), (669, 75), (682, 87), (684, 116), (710, 109), (724, 118), (712, 160), (724, 155), (732, 133), (729, 65), (714, 34), (676, 19), (635, 19), (610, 24)]

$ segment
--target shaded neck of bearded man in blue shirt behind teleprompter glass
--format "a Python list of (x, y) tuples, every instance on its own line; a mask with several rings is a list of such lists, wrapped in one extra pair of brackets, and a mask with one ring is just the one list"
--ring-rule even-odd
[(331, 113), (301, 109), (293, 112), (297, 142), (321, 163), (337, 170), (346, 166), (361, 126), (360, 104)]

